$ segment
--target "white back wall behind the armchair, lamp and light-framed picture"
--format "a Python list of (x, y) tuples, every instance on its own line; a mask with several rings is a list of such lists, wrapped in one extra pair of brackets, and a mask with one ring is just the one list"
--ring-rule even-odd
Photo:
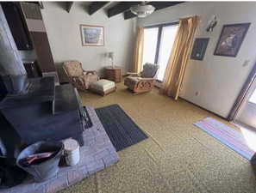
[[(124, 20), (122, 15), (109, 18), (104, 9), (88, 15), (82, 2), (75, 2), (70, 13), (65, 3), (44, 2), (41, 9), (47, 36), (57, 67), (66, 60), (78, 60), (84, 69), (96, 69), (102, 73), (104, 66), (110, 64), (105, 57), (108, 51), (115, 52), (115, 64), (122, 66), (122, 74), (132, 66), (134, 48), (135, 20)], [(80, 24), (104, 27), (104, 46), (82, 46)], [(62, 76), (61, 71), (60, 76)], [(60, 77), (61, 79), (62, 77)], [(62, 78), (63, 79), (63, 78)]]

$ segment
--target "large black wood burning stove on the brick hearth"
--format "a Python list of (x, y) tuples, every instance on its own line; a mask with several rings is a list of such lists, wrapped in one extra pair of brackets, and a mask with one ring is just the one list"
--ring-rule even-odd
[(0, 112), (22, 142), (29, 145), (72, 137), (84, 145), (82, 132), (92, 124), (76, 88), (71, 84), (55, 87), (53, 77), (43, 77), (28, 79), (23, 89), (26, 92), (9, 94), (0, 103)]

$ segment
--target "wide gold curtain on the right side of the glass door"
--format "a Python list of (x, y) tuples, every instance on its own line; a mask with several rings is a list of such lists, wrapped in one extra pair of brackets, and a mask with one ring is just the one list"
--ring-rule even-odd
[(179, 21), (178, 33), (165, 69), (163, 87), (160, 91), (175, 100), (178, 100), (178, 94), (184, 78), (186, 64), (190, 57), (190, 50), (198, 23), (198, 16), (180, 19)]

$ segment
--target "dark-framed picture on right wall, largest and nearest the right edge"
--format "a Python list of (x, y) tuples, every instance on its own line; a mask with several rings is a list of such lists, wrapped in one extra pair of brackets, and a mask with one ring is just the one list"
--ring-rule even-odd
[(236, 57), (249, 27), (250, 23), (224, 25), (214, 55)]

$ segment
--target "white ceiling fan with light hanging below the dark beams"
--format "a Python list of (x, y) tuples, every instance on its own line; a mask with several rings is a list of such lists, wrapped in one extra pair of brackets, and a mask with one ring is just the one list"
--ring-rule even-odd
[(151, 15), (155, 8), (153, 5), (142, 2), (138, 5), (132, 6), (130, 10), (134, 15), (137, 15), (138, 17), (146, 17), (147, 15)]

